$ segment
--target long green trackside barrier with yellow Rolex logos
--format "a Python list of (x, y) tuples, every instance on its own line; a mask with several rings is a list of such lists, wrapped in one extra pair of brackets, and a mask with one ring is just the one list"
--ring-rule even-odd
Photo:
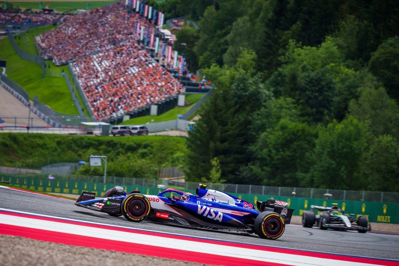
[[(34, 175), (34, 174), (32, 174)], [(77, 177), (77, 176), (76, 176)], [(103, 177), (100, 177), (101, 179)], [(100, 179), (100, 180), (101, 180)], [(156, 195), (163, 191), (166, 187), (175, 187), (176, 189), (184, 190), (195, 194), (195, 188), (185, 189), (173, 186), (174, 182), (168, 185), (160, 184), (164, 180), (158, 179), (138, 179), (138, 178), (122, 178), (108, 177), (109, 183), (96, 182), (91, 177), (86, 180), (77, 179), (59, 179), (55, 177), (53, 180), (45, 178), (24, 177), (24, 176), (11, 176), (0, 174), (0, 182), (6, 181), (12, 185), (19, 185), (23, 188), (36, 189), (39, 191), (52, 192), (52, 193), (68, 193), (79, 195), (83, 191), (96, 193), (97, 196), (103, 196), (105, 191), (115, 187), (115, 185), (124, 186), (126, 193), (133, 190), (142, 191), (142, 193), (149, 195)], [(304, 211), (310, 210), (311, 205), (318, 206), (331, 206), (332, 203), (338, 203), (340, 209), (345, 213), (354, 214), (356, 217), (363, 215), (366, 216), (369, 222), (377, 223), (399, 223), (399, 204), (389, 202), (370, 202), (370, 201), (350, 201), (350, 200), (330, 200), (330, 199), (315, 199), (309, 197), (292, 197), (292, 196), (279, 196), (276, 194), (260, 194), (260, 193), (235, 193), (226, 191), (222, 187), (217, 187), (215, 184), (210, 184), (209, 189), (221, 189), (239, 199), (243, 199), (256, 206), (257, 201), (265, 201), (268, 198), (278, 199), (280, 201), (288, 202), (289, 208), (294, 209), (293, 215), (302, 215)]]

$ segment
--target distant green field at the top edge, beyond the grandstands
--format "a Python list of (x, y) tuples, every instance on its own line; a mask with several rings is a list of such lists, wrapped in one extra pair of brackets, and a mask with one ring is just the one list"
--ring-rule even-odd
[[(38, 2), (14, 2), (14, 1), (8, 1), (10, 4), (13, 4), (14, 7), (19, 6), (20, 8), (32, 8), (32, 9), (39, 9), (39, 3)], [(95, 9), (99, 8), (102, 6), (107, 6), (109, 4), (115, 3), (117, 1), (83, 1), (83, 2), (48, 2), (50, 8), (54, 8), (56, 12), (65, 12), (74, 8), (77, 9), (84, 9), (86, 10), (87, 8), (87, 3), (90, 4), (90, 9)], [(46, 7), (47, 2), (43, 1), (43, 8)]]

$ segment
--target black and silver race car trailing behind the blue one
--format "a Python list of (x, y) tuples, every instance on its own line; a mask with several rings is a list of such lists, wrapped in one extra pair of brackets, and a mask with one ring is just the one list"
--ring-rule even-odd
[[(311, 205), (310, 211), (304, 211), (303, 213), (302, 226), (317, 226), (322, 230), (357, 230), (359, 233), (371, 231), (367, 217), (359, 216), (356, 219), (354, 214), (346, 215), (345, 211), (339, 209), (337, 205), (337, 203), (333, 203), (332, 207)], [(322, 213), (316, 214), (313, 210), (318, 210)]]

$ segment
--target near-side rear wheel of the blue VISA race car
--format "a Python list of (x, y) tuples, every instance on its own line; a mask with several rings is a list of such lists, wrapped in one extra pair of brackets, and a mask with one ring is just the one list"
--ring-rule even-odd
[(275, 240), (284, 233), (284, 220), (278, 213), (273, 211), (264, 211), (256, 217), (254, 230), (261, 238)]

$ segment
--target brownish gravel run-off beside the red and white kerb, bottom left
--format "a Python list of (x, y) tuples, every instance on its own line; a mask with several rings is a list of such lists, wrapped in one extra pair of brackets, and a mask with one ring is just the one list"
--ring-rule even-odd
[(0, 235), (0, 265), (199, 266), (206, 264), (147, 257), (95, 248), (68, 246), (32, 240), (20, 236)]

